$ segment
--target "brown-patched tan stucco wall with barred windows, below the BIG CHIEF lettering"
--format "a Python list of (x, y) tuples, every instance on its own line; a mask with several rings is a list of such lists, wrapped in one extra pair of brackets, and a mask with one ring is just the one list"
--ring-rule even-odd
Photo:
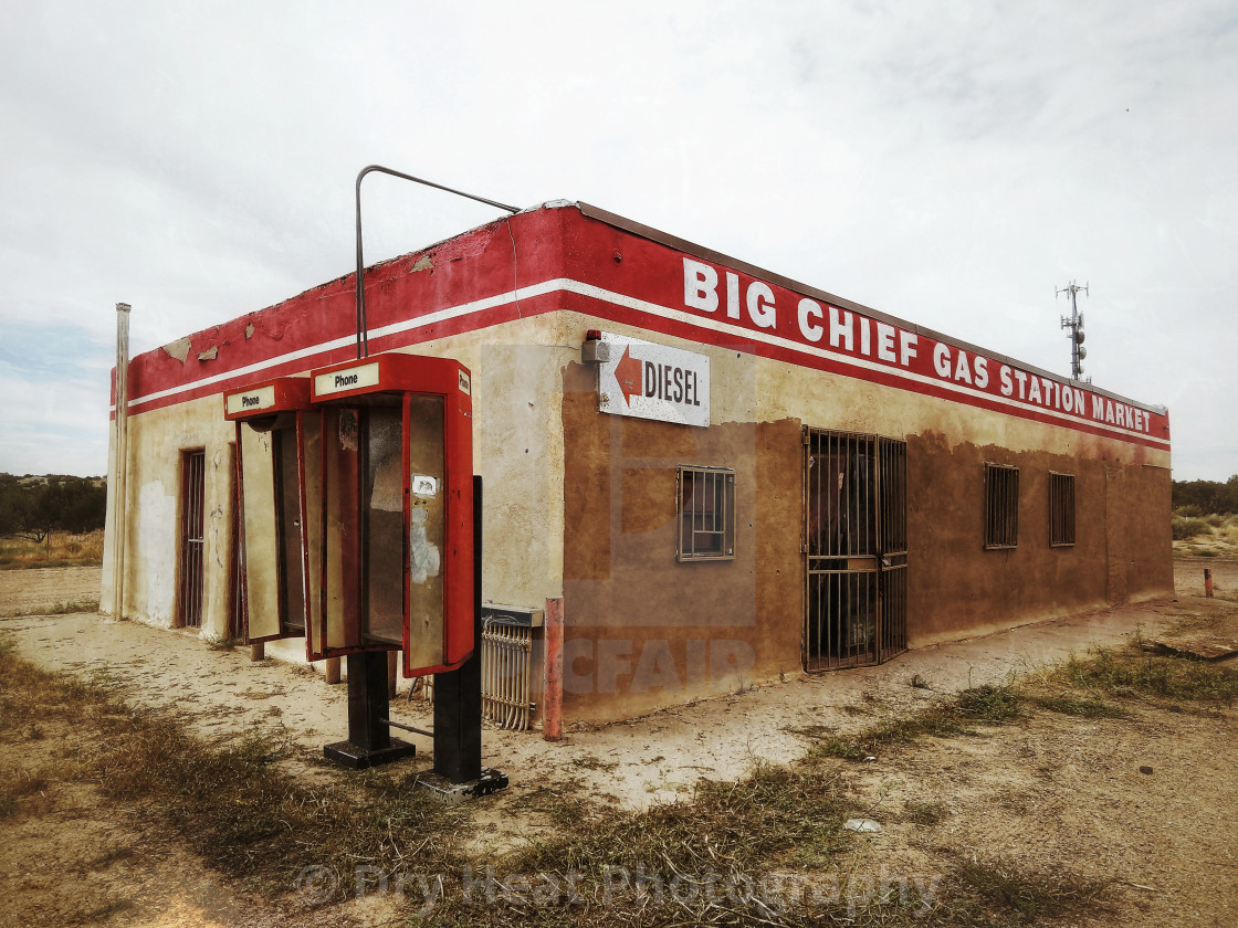
[[(650, 339), (579, 316), (577, 340), (591, 328)], [(742, 351), (656, 340), (711, 358), (708, 428), (603, 415), (595, 371), (579, 364), (565, 371), (569, 720), (628, 718), (802, 668), (801, 426), (907, 442), (912, 647), (1172, 589), (1167, 452)], [(1014, 551), (983, 548), (987, 460), (1020, 468)], [(735, 469), (734, 562), (675, 562), (680, 464)], [(1076, 475), (1073, 547), (1049, 546), (1049, 470)], [(713, 641), (733, 656), (742, 651), (745, 666), (713, 666)]]

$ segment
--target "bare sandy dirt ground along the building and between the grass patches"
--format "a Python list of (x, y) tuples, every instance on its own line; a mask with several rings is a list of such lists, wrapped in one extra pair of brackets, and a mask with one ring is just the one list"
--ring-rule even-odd
[[(1203, 568), (1216, 599), (1202, 598)], [(282, 726), (307, 752), (347, 731), (347, 693), (303, 667), (245, 648), (214, 650), (189, 632), (97, 615), (37, 615), (98, 595), (98, 569), (0, 573), (0, 632), (40, 666), (106, 672), (129, 698), (175, 709), (209, 736)], [(1238, 561), (1176, 562), (1179, 594), (910, 652), (877, 668), (800, 674), (781, 684), (701, 700), (650, 716), (569, 730), (557, 744), (536, 733), (487, 729), (483, 762), (511, 787), (475, 803), (485, 846), (519, 846), (545, 824), (522, 798), (539, 787), (581, 789), (619, 807), (691, 798), (701, 777), (735, 780), (758, 762), (790, 762), (805, 731), (854, 733), (966, 687), (1035, 678), (1091, 645), (1200, 631), (1238, 637)], [(927, 688), (911, 685), (912, 678)], [(400, 698), (392, 719), (430, 728), (431, 711)], [(943, 851), (1000, 857), (1032, 870), (1068, 869), (1113, 885), (1115, 909), (1093, 924), (1238, 923), (1238, 714), (1170, 711), (1135, 704), (1128, 719), (1050, 713), (983, 737), (925, 739), (868, 763), (839, 762), (851, 788), (870, 797), (878, 834), (857, 839), (853, 865), (880, 874), (931, 874)], [(412, 768), (431, 765), (417, 745)], [(54, 737), (31, 757), (56, 756)], [(35, 755), (38, 755), (36, 757)], [(1141, 767), (1153, 772), (1141, 773)], [(100, 808), (92, 789), (57, 786), (41, 815), (0, 822), (0, 895), (20, 900), (30, 924), (144, 926), (371, 924), (391, 917), (366, 903), (311, 911), (296, 893), (275, 906), (246, 897), (176, 848), (151, 845), (128, 818)], [(941, 820), (915, 823), (932, 806)], [(484, 849), (479, 849), (484, 850)], [(291, 887), (290, 887), (291, 891)]]

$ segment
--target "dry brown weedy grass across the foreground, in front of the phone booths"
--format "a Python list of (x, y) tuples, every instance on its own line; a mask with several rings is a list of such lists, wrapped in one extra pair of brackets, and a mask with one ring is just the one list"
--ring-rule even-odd
[[(842, 829), (846, 818), (868, 814), (872, 806), (852, 792), (838, 757), (877, 746), (911, 750), (921, 736), (974, 734), (1041, 710), (1120, 719), (1102, 695), (1227, 703), (1238, 685), (1224, 668), (1104, 651), (1049, 676), (1058, 688), (1052, 693), (1041, 692), (1044, 681), (971, 688), (853, 739), (823, 740), (799, 763), (761, 763), (735, 782), (701, 780), (691, 798), (641, 812), (591, 798), (578, 784), (546, 783), (517, 801), (546, 828), (535, 829), (524, 846), (496, 854), (465, 849), (470, 807), (441, 807), (407, 777), (307, 771), (307, 758), (295, 757), (272, 730), (207, 741), (171, 715), (131, 707), (115, 681), (47, 673), (17, 659), (0, 640), (0, 747), (37, 737), (38, 725), (74, 726), (64, 739), (69, 754), (54, 772), (0, 777), (0, 812), (40, 814), (31, 797), (54, 788), (54, 777), (90, 782), (108, 808), (146, 833), (144, 840), (173, 840), (266, 896), (288, 893), (307, 866), (340, 877), (327, 902), (352, 895), (358, 865), (443, 874), (454, 882), (428, 907), (418, 922), (425, 924), (1014, 928), (1078, 921), (1107, 911), (1103, 883), (1039, 865), (964, 860), (945, 848), (931, 851), (942, 882), (930, 892), (919, 885), (874, 892), (858, 870), (865, 839)], [(932, 828), (946, 814), (940, 802), (909, 802), (900, 818)], [(108, 848), (97, 862), (131, 853)], [(495, 876), (487, 877), (488, 866)], [(472, 901), (463, 892), (465, 872), (478, 881)], [(650, 879), (641, 882), (641, 874)], [(781, 875), (792, 877), (790, 891), (787, 883), (773, 895), (760, 887)], [(478, 904), (475, 893), (487, 892), (498, 893), (496, 904)], [(423, 893), (417, 883), (406, 887), (410, 912)]]

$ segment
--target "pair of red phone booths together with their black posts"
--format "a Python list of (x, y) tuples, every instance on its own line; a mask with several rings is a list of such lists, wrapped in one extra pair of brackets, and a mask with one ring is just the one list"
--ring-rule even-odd
[(390, 737), (407, 726), (386, 718), (386, 652), (399, 650), (406, 677), (436, 674), (444, 693), (435, 731), (422, 733), (435, 739), (436, 775), (475, 781), (473, 794), (506, 786), (480, 767), (468, 369), (378, 355), (229, 393), (227, 416), (238, 429), (249, 640), (303, 635), (310, 661), (348, 661), (348, 740), (326, 755), (360, 768), (413, 754)]

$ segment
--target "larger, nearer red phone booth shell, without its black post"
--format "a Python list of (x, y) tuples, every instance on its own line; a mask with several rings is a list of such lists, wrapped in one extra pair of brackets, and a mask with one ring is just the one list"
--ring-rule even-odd
[(458, 668), (473, 653), (475, 611), (468, 369), (386, 354), (316, 370), (311, 382), (322, 422), (311, 659), (400, 648), (406, 677)]

